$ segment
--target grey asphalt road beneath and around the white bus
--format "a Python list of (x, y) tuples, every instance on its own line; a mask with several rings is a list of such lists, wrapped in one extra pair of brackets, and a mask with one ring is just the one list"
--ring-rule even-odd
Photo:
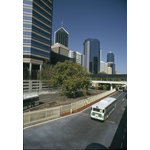
[[(24, 129), (24, 149), (127, 148), (127, 92), (117, 92), (117, 107), (105, 122), (92, 120), (88, 108), (78, 114)], [(126, 107), (125, 107), (126, 108)]]

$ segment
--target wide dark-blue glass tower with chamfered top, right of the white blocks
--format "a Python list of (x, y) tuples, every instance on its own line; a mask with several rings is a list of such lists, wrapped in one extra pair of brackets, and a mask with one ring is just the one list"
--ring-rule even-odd
[(97, 74), (100, 71), (100, 41), (98, 39), (86, 39), (83, 43), (82, 66), (88, 72)]

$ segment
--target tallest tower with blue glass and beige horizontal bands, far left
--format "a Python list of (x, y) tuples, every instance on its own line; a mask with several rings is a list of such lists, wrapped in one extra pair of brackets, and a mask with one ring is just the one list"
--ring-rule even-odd
[(23, 66), (42, 68), (50, 61), (53, 0), (23, 0)]

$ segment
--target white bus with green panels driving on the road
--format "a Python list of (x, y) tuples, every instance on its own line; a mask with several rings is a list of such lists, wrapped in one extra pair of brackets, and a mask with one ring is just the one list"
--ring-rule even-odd
[(107, 97), (100, 102), (92, 105), (91, 118), (106, 120), (116, 108), (116, 98)]

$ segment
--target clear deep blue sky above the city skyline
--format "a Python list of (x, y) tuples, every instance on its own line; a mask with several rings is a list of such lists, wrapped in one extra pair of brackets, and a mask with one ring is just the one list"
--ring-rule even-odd
[(115, 70), (127, 74), (126, 0), (53, 0), (52, 40), (61, 27), (69, 32), (69, 50), (83, 54), (87, 38), (98, 39), (102, 61), (112, 51)]

